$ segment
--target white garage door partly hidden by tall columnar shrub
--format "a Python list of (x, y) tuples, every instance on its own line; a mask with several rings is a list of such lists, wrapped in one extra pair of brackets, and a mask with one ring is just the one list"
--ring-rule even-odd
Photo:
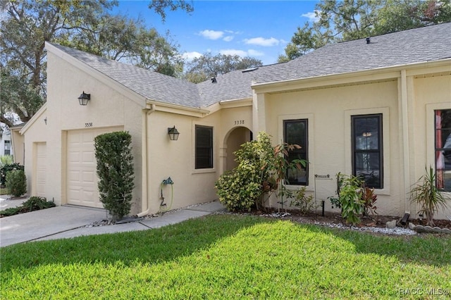
[(102, 208), (97, 189), (97, 163), (94, 137), (122, 127), (68, 131), (67, 200), (68, 204)]

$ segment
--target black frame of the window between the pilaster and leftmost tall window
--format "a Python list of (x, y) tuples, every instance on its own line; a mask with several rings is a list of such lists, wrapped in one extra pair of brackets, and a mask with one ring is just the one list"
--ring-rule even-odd
[[(357, 131), (355, 121), (364, 118), (377, 118), (378, 121), (378, 149), (357, 149), (355, 132)], [(379, 185), (366, 185), (374, 189), (384, 189), (384, 162), (383, 162), (383, 113), (368, 113), (351, 115), (351, 151), (352, 151), (352, 175), (357, 175), (357, 154), (379, 154)]]

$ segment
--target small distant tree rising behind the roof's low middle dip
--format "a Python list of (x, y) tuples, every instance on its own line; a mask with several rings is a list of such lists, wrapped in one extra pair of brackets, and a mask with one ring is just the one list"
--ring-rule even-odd
[(219, 74), (225, 74), (233, 70), (245, 70), (263, 65), (263, 63), (249, 56), (240, 57), (237, 55), (217, 54), (212, 56), (211, 53), (194, 58), (187, 63), (187, 71), (185, 77), (190, 82), (203, 82), (209, 77), (216, 77)]

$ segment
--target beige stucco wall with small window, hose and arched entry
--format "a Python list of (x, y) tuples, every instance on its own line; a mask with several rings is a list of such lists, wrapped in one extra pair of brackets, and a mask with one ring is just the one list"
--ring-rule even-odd
[[(181, 208), (218, 199), (214, 183), (223, 173), (227, 159), (228, 151), (224, 143), (230, 131), (252, 124), (252, 108), (250, 106), (225, 108), (199, 118), (161, 112), (158, 111), (158, 105), (156, 106), (157, 111), (147, 117), (150, 212), (156, 213), (168, 208)], [(238, 123), (240, 125), (237, 125)], [(168, 127), (174, 125), (180, 132), (177, 141), (171, 141), (168, 138)], [(199, 170), (194, 168), (196, 125), (213, 127), (214, 168)], [(173, 187), (163, 186), (163, 196), (167, 206), (160, 207), (161, 182), (168, 177), (171, 177), (174, 184)], [(171, 198), (173, 198), (172, 204)]]

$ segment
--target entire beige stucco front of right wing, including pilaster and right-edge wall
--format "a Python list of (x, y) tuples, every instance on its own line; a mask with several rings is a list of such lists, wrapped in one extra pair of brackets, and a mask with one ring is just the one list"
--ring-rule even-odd
[[(383, 189), (376, 189), (381, 215), (416, 218), (417, 208), (410, 204), (409, 189), (424, 174), (426, 165), (434, 165), (434, 109), (451, 108), (451, 66), (425, 63), (407, 70), (362, 74), (359, 77), (330, 76), (299, 80), (290, 84), (262, 85), (255, 89), (254, 121), (259, 130), (273, 136), (273, 143), (283, 140), (283, 120), (308, 119), (309, 186), (317, 204), (335, 194), (335, 180), (315, 180), (314, 175), (352, 173), (351, 115), (383, 114)], [(374, 77), (378, 80), (373, 80)], [(352, 82), (349, 78), (361, 83)], [(332, 85), (331, 82), (340, 82)], [(290, 92), (292, 90), (292, 92)], [(451, 193), (447, 193), (451, 194)], [(278, 206), (270, 199), (271, 206)], [(451, 204), (450, 204), (451, 206)], [(320, 210), (321, 208), (319, 208)], [(435, 218), (446, 218), (451, 209)]]

